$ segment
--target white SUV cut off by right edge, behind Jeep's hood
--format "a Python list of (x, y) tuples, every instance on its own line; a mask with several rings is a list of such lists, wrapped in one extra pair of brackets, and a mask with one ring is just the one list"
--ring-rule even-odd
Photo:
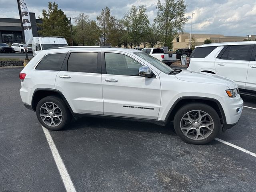
[(256, 95), (256, 42), (214, 43), (196, 46), (188, 70), (230, 78), (243, 94)]

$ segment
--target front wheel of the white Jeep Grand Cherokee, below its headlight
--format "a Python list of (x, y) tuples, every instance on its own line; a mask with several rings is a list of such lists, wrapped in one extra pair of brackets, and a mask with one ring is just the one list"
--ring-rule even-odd
[(190, 144), (206, 144), (220, 131), (220, 117), (209, 105), (187, 104), (174, 116), (174, 129), (180, 138)]

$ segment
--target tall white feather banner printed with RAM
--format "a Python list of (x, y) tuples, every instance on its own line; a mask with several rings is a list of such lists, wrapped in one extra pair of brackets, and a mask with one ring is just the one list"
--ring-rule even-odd
[(22, 20), (22, 28), (24, 30), (26, 44), (32, 44), (33, 34), (32, 34), (32, 28), (30, 23), (30, 16), (29, 16), (26, 2), (24, 0), (19, 1), (19, 8), (21, 12), (20, 19)]

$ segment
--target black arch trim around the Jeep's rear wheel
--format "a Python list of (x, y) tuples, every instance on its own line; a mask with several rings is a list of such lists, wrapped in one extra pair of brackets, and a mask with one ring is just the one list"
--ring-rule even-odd
[(62, 99), (66, 106), (68, 106), (68, 109), (70, 110), (70, 112), (72, 113), (72, 115), (74, 114), (72, 108), (70, 107), (70, 105), (68, 104), (68, 101), (66, 100), (65, 96), (62, 94), (62, 92), (60, 92), (59, 90), (56, 89), (50, 89), (50, 88), (37, 88), (32, 96), (32, 102), (31, 102), (31, 106), (32, 106), (32, 110), (36, 111), (36, 105), (38, 104), (38, 102), (47, 96), (56, 96), (60, 99)]

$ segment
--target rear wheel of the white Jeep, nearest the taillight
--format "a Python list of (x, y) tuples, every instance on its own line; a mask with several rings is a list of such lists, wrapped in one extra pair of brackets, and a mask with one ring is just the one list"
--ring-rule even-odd
[(56, 96), (42, 98), (36, 106), (36, 116), (48, 130), (61, 130), (66, 127), (72, 115), (65, 102)]

